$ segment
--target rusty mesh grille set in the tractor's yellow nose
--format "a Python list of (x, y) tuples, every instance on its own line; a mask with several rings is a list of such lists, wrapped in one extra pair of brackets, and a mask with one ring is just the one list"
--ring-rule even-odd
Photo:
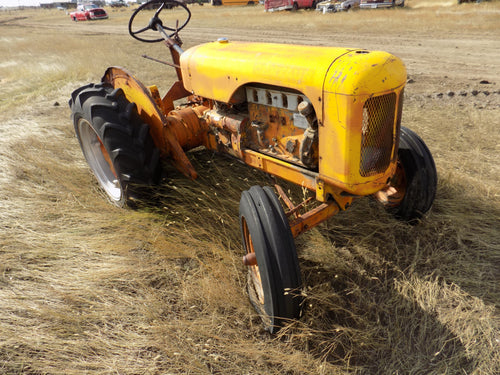
[(391, 162), (396, 94), (369, 98), (363, 106), (361, 161), (363, 177), (384, 172)]

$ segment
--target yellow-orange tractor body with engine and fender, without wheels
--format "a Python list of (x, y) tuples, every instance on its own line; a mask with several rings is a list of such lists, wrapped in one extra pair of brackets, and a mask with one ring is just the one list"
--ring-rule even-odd
[[(227, 42), (179, 55), (174, 44), (167, 41), (178, 80), (163, 99), (156, 86), (148, 90), (121, 68), (109, 68), (103, 82), (123, 89), (150, 125), (162, 155), (186, 176), (197, 174), (185, 151), (205, 146), (315, 192), (321, 204), (299, 214), (313, 198), (294, 206), (278, 189), (289, 208), (294, 237), (345, 210), (354, 199), (387, 186), (396, 171), (397, 108), (406, 80), (399, 59), (379, 51), (304, 46), (294, 46), (291, 58), (288, 45)], [(256, 98), (247, 102), (245, 87), (253, 88)], [(259, 98), (263, 92), (270, 102)], [(275, 105), (273, 96), (280, 92), (287, 100)], [(174, 102), (186, 97), (189, 102), (175, 109)], [(301, 122), (302, 112), (288, 98), (310, 103), (315, 120)], [(248, 105), (247, 112), (238, 111), (242, 104)], [(386, 108), (383, 114), (380, 108)], [(394, 139), (380, 145), (378, 131)], [(362, 151), (386, 152), (387, 165), (372, 170), (373, 160), (363, 159)], [(389, 187), (397, 185), (394, 179)], [(244, 260), (251, 266), (252, 257)]]

